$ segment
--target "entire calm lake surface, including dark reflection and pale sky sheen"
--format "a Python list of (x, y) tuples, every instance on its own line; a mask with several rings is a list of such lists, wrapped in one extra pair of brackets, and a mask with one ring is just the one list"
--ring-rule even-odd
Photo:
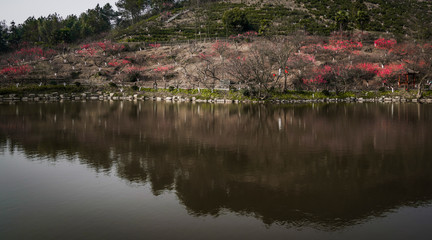
[(430, 239), (432, 105), (0, 104), (0, 239)]

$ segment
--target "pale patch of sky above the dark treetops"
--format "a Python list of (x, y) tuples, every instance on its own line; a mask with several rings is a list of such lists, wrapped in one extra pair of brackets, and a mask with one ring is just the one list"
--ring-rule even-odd
[(11, 21), (16, 24), (23, 23), (28, 17), (46, 17), (49, 14), (58, 13), (65, 18), (75, 14), (79, 16), (89, 8), (96, 5), (102, 7), (109, 3), (117, 9), (115, 3), (118, 0), (0, 0), (0, 21), (5, 21), (10, 26)]

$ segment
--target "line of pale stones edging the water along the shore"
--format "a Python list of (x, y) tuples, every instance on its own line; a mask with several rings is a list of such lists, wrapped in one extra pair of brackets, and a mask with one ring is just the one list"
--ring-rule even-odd
[(405, 103), (405, 102), (420, 102), (432, 103), (432, 99), (406, 99), (399, 96), (396, 97), (378, 97), (378, 98), (320, 98), (320, 99), (288, 99), (288, 100), (232, 100), (232, 99), (200, 99), (199, 97), (184, 97), (184, 96), (148, 96), (145, 94), (126, 94), (126, 93), (72, 93), (72, 94), (27, 94), (18, 96), (16, 94), (0, 95), (0, 102), (13, 101), (85, 101), (85, 100), (101, 100), (101, 101), (165, 101), (165, 102), (206, 102), (206, 103), (366, 103), (366, 102), (382, 102), (382, 103)]

